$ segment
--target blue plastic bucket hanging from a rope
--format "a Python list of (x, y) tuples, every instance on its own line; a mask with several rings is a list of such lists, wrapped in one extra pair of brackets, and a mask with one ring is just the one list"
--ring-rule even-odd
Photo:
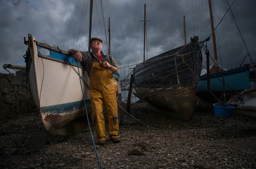
[(233, 112), (234, 106), (228, 104), (215, 103), (214, 106), (214, 115), (222, 118), (230, 118)]

